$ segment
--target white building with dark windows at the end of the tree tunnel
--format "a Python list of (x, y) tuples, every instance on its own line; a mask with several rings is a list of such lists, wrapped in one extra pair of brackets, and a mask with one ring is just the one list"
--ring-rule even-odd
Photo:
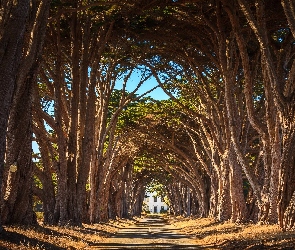
[(156, 192), (146, 193), (144, 198), (144, 206), (146, 210), (153, 214), (165, 212), (168, 210), (168, 205), (161, 199), (161, 197), (157, 196)]

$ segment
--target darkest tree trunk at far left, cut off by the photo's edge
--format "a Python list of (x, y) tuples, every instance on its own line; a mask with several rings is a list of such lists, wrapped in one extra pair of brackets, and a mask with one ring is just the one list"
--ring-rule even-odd
[[(9, 19), (1, 20), (1, 27), (5, 27), (5, 29), (2, 33), (2, 36), (0, 37), (0, 193), (2, 194), (1, 203), (4, 191), (2, 190), (2, 184), (8, 117), (11, 107), (13, 91), (15, 89), (15, 80), (17, 77), (20, 58), (22, 55), (24, 32), (26, 28), (27, 18), (29, 15), (30, 1), (19, 1), (17, 2), (16, 6), (13, 6), (11, 8), (12, 10)], [(2, 211), (0, 211), (0, 214), (1, 213)], [(0, 231), (1, 230), (2, 222), (0, 221)]]

